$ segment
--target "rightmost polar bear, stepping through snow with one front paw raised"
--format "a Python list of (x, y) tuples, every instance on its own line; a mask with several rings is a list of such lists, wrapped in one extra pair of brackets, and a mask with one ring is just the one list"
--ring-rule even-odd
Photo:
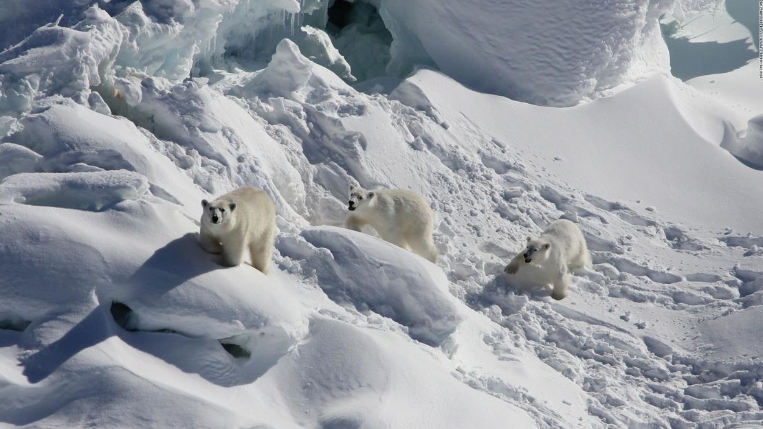
[(560, 219), (549, 224), (535, 240), (527, 237), (527, 247), (513, 257), (504, 271), (517, 273), (522, 261), (536, 264), (549, 273), (554, 283), (551, 296), (562, 299), (567, 296), (569, 271), (591, 266), (591, 254), (578, 225)]

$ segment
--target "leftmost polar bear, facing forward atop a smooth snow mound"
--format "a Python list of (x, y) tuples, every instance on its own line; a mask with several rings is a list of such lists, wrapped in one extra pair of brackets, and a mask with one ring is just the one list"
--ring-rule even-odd
[(237, 266), (249, 253), (252, 266), (268, 273), (275, 239), (275, 206), (260, 189), (242, 186), (217, 197), (201, 200), (201, 247), (222, 254), (221, 265)]

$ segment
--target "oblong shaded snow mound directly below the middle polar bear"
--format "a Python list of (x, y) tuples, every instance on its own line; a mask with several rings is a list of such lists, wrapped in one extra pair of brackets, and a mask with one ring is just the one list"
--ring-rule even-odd
[(301, 235), (304, 240), (279, 240), (278, 249), (300, 261), (303, 273), (314, 273), (333, 301), (391, 318), (431, 345), (462, 321), (445, 274), (420, 256), (343, 228), (313, 227)]

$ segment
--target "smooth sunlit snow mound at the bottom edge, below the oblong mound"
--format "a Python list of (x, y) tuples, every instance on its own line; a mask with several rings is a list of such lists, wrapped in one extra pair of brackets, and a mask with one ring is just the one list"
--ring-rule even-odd
[[(482, 395), (395, 334), (314, 319), (311, 335), (266, 376), (308, 427), (534, 427), (519, 408)], [(321, 362), (314, 366), (313, 363)], [(335, 368), (342, 368), (337, 379)], [(489, 410), (489, 411), (488, 411)]]

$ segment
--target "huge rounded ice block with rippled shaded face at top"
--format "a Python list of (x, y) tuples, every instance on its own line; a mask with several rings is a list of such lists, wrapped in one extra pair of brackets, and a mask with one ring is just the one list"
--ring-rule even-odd
[(388, 71), (432, 64), (483, 92), (575, 105), (617, 85), (667, 74), (658, 17), (670, 2), (381, 2), (394, 41)]

